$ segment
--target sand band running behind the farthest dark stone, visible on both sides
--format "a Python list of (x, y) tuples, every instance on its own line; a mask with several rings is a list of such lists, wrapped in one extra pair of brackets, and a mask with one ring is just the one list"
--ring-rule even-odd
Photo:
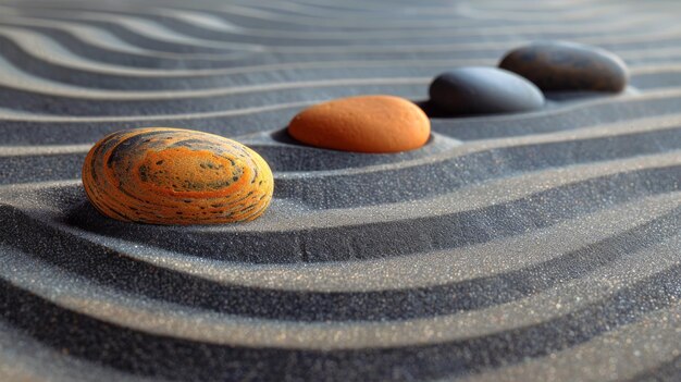
[[(7, 32), (7, 30), (4, 30)], [(0, 30), (0, 35), (3, 30)], [(11, 36), (11, 35), (10, 35)], [(10, 37), (8, 36), (8, 37)], [(7, 42), (5, 42), (7, 41)], [(18, 42), (18, 41), (16, 41)], [(71, 61), (71, 58), (58, 60), (58, 54), (53, 52), (49, 57), (34, 56), (25, 50), (23, 44), (14, 44), (11, 40), (1, 40), (4, 47), (5, 58), (12, 63), (4, 63), (0, 66), (3, 72), (11, 71), (12, 77), (22, 78), (22, 84), (36, 82), (40, 78), (49, 81), (60, 81), (64, 84), (84, 86), (87, 88), (120, 89), (120, 90), (152, 90), (152, 89), (187, 89), (193, 88), (220, 88), (228, 85), (257, 82), (278, 83), (287, 78), (337, 78), (351, 76), (376, 77), (385, 76), (394, 72), (396, 76), (410, 75), (432, 75), (447, 71), (465, 64), (480, 65), (481, 61), (465, 60), (433, 60), (418, 61), (421, 69), (412, 69), (416, 61), (392, 61), (392, 62), (320, 62), (320, 63), (292, 63), (292, 64), (265, 64), (253, 67), (235, 67), (227, 70), (211, 71), (102, 71), (100, 66), (90, 63), (88, 66), (81, 62)], [(32, 45), (33, 46), (33, 45)], [(40, 50), (39, 52), (45, 52)], [(55, 56), (57, 54), (57, 56)], [(3, 58), (0, 58), (2, 60)], [(27, 65), (28, 64), (28, 65)], [(386, 64), (391, 69), (386, 71)], [(29, 73), (33, 77), (16, 70)], [(637, 66), (632, 70), (632, 84), (639, 88), (655, 88), (679, 86), (677, 81), (678, 67), (673, 65)], [(228, 76), (227, 76), (228, 75)], [(45, 84), (45, 83), (41, 83)], [(46, 84), (47, 85), (47, 84)], [(49, 84), (54, 86), (55, 84)]]

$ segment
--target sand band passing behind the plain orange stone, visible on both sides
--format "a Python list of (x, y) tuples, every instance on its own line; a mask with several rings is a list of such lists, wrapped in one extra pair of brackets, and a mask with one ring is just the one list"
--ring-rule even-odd
[[(618, 97), (578, 102), (547, 110), (544, 113), (483, 119), (435, 119), (432, 124), (435, 132), (465, 140), (505, 137), (513, 134), (518, 136), (546, 134), (589, 126), (593, 124), (594, 115), (597, 115), (600, 123), (605, 123), (670, 114), (678, 110), (676, 103), (679, 98), (678, 90), (664, 89), (622, 99)], [(258, 126), (281, 128), (285, 123), (282, 121), (289, 121), (300, 108), (318, 101), (322, 100), (168, 116), (48, 116), (0, 110), (0, 120), (7, 133), (4, 139), (11, 144), (92, 143), (116, 130), (149, 125), (190, 126), (210, 133), (235, 136), (253, 133), (253, 128)], [(673, 120), (674, 115), (670, 114), (670, 119)], [(73, 134), (74, 131), (78, 133)], [(61, 132), (61, 134), (55, 134), (55, 132)]]

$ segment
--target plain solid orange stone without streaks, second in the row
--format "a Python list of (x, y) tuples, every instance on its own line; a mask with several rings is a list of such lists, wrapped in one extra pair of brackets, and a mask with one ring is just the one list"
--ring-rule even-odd
[(397, 152), (423, 146), (431, 122), (412, 102), (394, 96), (358, 96), (312, 106), (296, 115), (288, 134), (322, 148)]

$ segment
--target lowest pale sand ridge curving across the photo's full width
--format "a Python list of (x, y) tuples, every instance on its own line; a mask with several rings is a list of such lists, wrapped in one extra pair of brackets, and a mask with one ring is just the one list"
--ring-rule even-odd
[[(594, 288), (598, 292), (585, 298), (562, 299), (558, 304), (557, 309), (547, 309), (549, 307), (556, 308), (555, 295), (557, 292), (550, 291), (537, 293), (519, 301), (481, 310), (436, 318), (400, 320), (397, 322), (383, 321), (369, 324), (364, 322), (329, 322), (324, 326), (319, 326), (302, 322), (243, 320), (236, 317), (221, 317), (220, 315), (205, 311), (188, 311), (186, 315), (163, 317), (159, 315), (159, 311), (171, 310), (173, 308), (172, 305), (163, 306), (162, 303), (154, 303), (152, 306), (149, 306), (149, 303), (121, 298), (123, 296), (116, 296), (104, 291), (97, 291), (97, 295), (102, 297), (102, 300), (98, 300), (92, 298), (91, 293), (83, 292), (85, 284), (64, 285), (57, 293), (50, 291), (51, 285), (49, 284), (22, 285), (22, 282), (18, 281), (20, 276), (25, 276), (30, 270), (26, 264), (22, 264), (13, 259), (5, 259), (15, 269), (13, 275), (8, 274), (5, 278), (15, 280), (17, 286), (26, 287), (33, 294), (50, 299), (66, 309), (75, 310), (102, 321), (132, 326), (147, 333), (179, 336), (211, 344), (242, 346), (255, 345), (310, 349), (348, 349), (369, 346), (394, 347), (423, 345), (433, 342), (465, 341), (493, 335), (499, 330), (512, 330), (555, 320), (571, 310), (598, 303), (622, 288), (648, 278), (652, 279), (656, 273), (668, 270), (669, 266), (679, 260), (679, 255), (669, 250), (669, 244), (671, 243), (680, 242), (676, 237), (661, 246), (642, 252), (627, 254), (622, 260), (616, 261), (614, 266), (598, 270), (596, 274), (589, 279), (566, 282), (559, 289), (562, 294), (581, 295), (585, 288)], [(663, 258), (661, 261), (660, 257)], [(654, 258), (657, 261), (649, 261)], [(618, 278), (618, 275), (626, 273), (628, 269), (646, 263), (641, 260), (648, 260), (648, 263), (652, 266), (646, 267), (645, 270), (637, 272), (631, 278)], [(32, 266), (35, 267), (35, 264)], [(67, 278), (67, 275), (58, 274), (52, 278), (60, 280)], [(505, 311), (519, 309), (532, 312), (523, 315), (520, 324), (499, 325), (494, 323), (495, 319), (504, 315)], [(159, 321), (161, 322), (160, 325)], [(206, 321), (208, 322), (205, 323)], [(405, 334), (396, 336), (395, 333)], [(435, 335), (435, 333), (438, 334)]]

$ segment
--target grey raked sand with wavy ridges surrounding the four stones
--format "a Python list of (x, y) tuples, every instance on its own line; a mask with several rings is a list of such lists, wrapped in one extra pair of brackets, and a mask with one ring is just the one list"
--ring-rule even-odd
[[(0, 0), (0, 380), (681, 377), (676, 1)], [(283, 132), (342, 96), (426, 97), (535, 39), (622, 57), (631, 87), (434, 119), (422, 149)], [(259, 220), (102, 218), (79, 182), (111, 132), (260, 152)]]

